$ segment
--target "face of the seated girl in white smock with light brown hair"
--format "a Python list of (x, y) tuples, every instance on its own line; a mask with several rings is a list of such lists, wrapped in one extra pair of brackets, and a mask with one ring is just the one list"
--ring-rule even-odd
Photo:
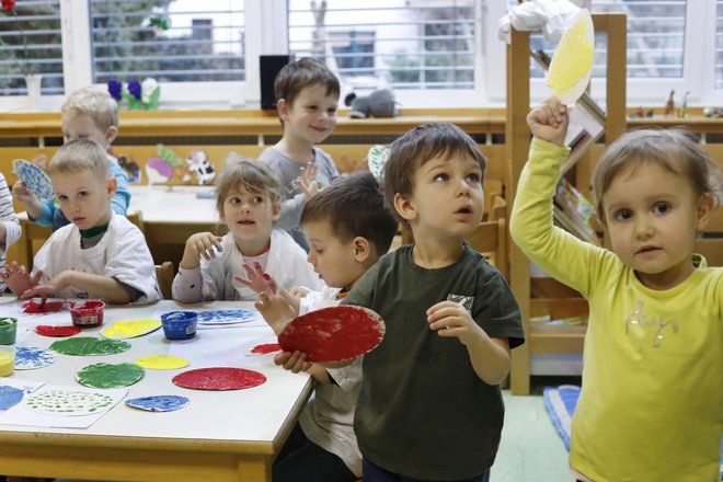
[(220, 218), (239, 249), (254, 255), (268, 245), (274, 220), (278, 219), (280, 210), (280, 204), (272, 203), (268, 194), (251, 192), (240, 185), (229, 191)]

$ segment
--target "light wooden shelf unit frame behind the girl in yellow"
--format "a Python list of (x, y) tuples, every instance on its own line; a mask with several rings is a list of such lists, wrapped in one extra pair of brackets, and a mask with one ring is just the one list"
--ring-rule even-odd
[[(594, 13), (596, 32), (607, 33), (607, 82), (605, 140), (617, 139), (627, 124), (626, 112), (626, 61), (627, 61), (627, 18), (621, 13)], [(530, 110), (530, 39), (529, 32), (512, 30), (512, 41), (507, 45), (507, 118), (505, 123), (505, 159), (507, 161), (506, 186), (508, 199), (514, 199), (517, 182), (527, 162), (530, 147), (530, 131), (527, 114)], [(582, 165), (581, 165), (582, 164)], [(589, 192), (588, 180), (592, 170), (589, 156), (578, 162), (578, 188)], [(513, 351), (510, 386), (513, 394), (529, 394), (530, 357), (541, 353), (581, 353), (584, 332), (579, 329), (555, 332), (532, 330), (530, 317), (530, 262), (514, 243), (508, 250), (510, 286), (523, 313), (527, 342)]]

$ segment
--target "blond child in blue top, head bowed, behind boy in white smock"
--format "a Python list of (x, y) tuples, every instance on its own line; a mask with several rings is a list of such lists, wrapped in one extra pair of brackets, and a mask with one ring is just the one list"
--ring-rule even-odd
[[(90, 139), (108, 149), (118, 135), (118, 106), (105, 90), (93, 87), (78, 89), (62, 104), (61, 114), (65, 142)], [(115, 195), (111, 199), (111, 208), (125, 216), (130, 203), (128, 175), (113, 156), (107, 154), (107, 162), (117, 185)], [(12, 194), (15, 200), (26, 204), (31, 221), (41, 226), (53, 226), (54, 231), (69, 222), (55, 200), (38, 199), (22, 181), (13, 185)]]

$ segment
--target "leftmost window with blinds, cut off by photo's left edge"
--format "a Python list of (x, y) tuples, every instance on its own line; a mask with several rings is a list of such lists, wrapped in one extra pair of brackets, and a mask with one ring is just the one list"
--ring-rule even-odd
[(0, 92), (25, 95), (25, 76), (43, 74), (44, 94), (64, 93), (60, 0), (18, 1), (0, 10)]

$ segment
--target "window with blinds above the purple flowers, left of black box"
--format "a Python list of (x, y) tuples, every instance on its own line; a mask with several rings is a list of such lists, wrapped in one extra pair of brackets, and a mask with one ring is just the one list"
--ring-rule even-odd
[(242, 0), (91, 0), (93, 81), (245, 79)]

